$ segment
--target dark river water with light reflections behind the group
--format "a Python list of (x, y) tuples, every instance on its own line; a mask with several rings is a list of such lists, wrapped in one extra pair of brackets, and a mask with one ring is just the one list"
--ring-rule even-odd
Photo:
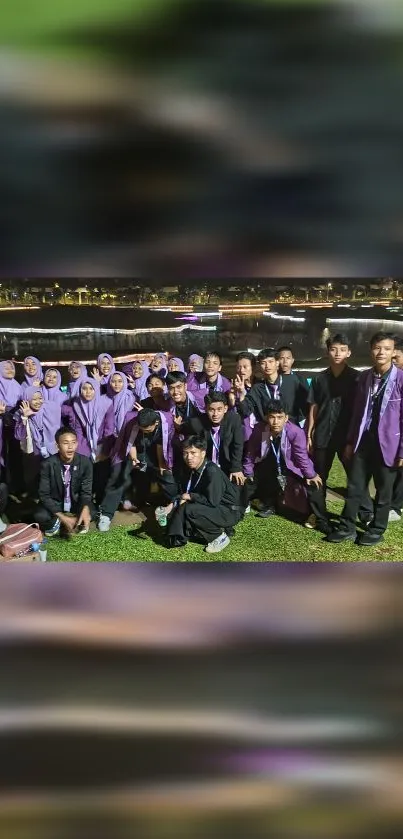
[[(273, 316), (274, 315), (274, 316)], [(314, 370), (326, 365), (326, 338), (348, 334), (352, 363), (368, 363), (368, 342), (375, 331), (391, 330), (403, 337), (403, 308), (350, 310), (273, 307), (270, 315), (203, 315), (194, 319), (171, 311), (126, 308), (66, 307), (8, 310), (0, 313), (0, 354), (22, 361), (27, 354), (43, 363), (71, 359), (93, 362), (100, 352), (124, 360), (141, 353), (170, 352), (184, 359), (214, 348), (232, 373), (237, 352), (265, 346), (293, 347), (296, 367)]]

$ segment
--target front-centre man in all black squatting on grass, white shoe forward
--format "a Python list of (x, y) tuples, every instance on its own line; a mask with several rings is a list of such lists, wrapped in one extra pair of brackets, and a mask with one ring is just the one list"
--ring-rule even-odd
[(237, 487), (207, 460), (206, 450), (204, 435), (194, 434), (183, 443), (180, 493), (164, 508), (169, 547), (183, 547), (193, 537), (207, 542), (206, 553), (219, 553), (229, 545), (242, 516)]

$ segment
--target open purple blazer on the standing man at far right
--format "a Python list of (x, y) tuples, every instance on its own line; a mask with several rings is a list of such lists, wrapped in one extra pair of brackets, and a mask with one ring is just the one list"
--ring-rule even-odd
[[(361, 373), (357, 382), (353, 417), (347, 434), (347, 444), (357, 451), (370, 407), (372, 368)], [(392, 367), (382, 395), (378, 438), (386, 466), (394, 466), (403, 458), (403, 370)]]

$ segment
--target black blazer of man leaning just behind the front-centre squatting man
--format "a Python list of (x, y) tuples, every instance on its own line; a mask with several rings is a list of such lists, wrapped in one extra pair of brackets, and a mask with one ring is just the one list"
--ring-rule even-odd
[[(200, 434), (202, 430), (207, 440), (207, 457), (212, 459), (213, 441), (212, 424), (207, 414), (190, 420), (191, 434)], [(220, 427), (220, 451), (218, 461), (228, 477), (232, 472), (242, 472), (244, 435), (240, 416), (235, 411), (227, 411)]]

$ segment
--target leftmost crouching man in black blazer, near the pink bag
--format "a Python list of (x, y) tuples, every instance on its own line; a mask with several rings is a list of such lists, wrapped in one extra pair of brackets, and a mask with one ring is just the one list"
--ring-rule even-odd
[(46, 536), (56, 536), (62, 528), (87, 533), (95, 508), (92, 504), (92, 461), (77, 454), (77, 434), (59, 428), (55, 435), (57, 454), (42, 462), (39, 505), (35, 521)]

